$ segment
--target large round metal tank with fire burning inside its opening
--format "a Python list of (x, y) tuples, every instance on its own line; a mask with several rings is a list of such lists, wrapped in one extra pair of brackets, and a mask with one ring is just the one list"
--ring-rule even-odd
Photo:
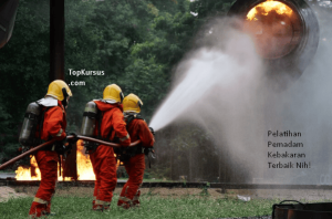
[(319, 23), (304, 0), (237, 0), (228, 15), (243, 20), (273, 79), (298, 79), (319, 44)]

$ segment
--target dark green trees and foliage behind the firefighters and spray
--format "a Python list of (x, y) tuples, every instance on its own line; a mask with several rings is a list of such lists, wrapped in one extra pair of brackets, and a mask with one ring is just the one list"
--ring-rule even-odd
[[(225, 15), (234, 1), (65, 0), (65, 81), (85, 81), (85, 86), (71, 87), (69, 129), (79, 132), (84, 105), (101, 98), (111, 83), (143, 100), (148, 123), (170, 88), (173, 69), (195, 46), (200, 27)], [(0, 51), (0, 163), (17, 155), (25, 108), (46, 93), (49, 23), (48, 0), (20, 0), (12, 38)], [(71, 76), (69, 69), (105, 75)], [(151, 177), (237, 180), (209, 134), (194, 124), (172, 125), (156, 139)]]

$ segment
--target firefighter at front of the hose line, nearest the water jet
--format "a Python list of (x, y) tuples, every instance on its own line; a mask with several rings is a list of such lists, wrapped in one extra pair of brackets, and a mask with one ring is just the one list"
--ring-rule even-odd
[(124, 164), (129, 176), (124, 185), (117, 206), (128, 209), (139, 206), (139, 187), (143, 182), (145, 158), (154, 145), (153, 131), (138, 114), (143, 102), (135, 94), (127, 95), (123, 101), (124, 116), (132, 142), (141, 139), (141, 144), (129, 148), (115, 148), (116, 157)]

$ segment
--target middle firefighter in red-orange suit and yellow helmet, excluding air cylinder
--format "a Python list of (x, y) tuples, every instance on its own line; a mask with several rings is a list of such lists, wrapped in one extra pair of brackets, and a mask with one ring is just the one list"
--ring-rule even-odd
[[(129, 146), (131, 138), (123, 117), (123, 97), (120, 86), (111, 84), (105, 87), (103, 100), (94, 101), (101, 113), (94, 135), (103, 140)], [(94, 152), (89, 153), (96, 177), (92, 208), (103, 211), (110, 208), (116, 186), (116, 159), (113, 148), (106, 145), (98, 145)]]

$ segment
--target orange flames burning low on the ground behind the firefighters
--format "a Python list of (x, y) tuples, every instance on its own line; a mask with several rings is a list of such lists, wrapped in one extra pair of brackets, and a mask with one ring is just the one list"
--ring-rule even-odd
[[(77, 142), (77, 154), (76, 154), (76, 164), (77, 164), (77, 176), (79, 180), (95, 180), (95, 176), (92, 169), (92, 164), (89, 155), (84, 153), (84, 147), (82, 140)], [(58, 173), (59, 173), (59, 164), (58, 164)], [(31, 176), (31, 169), (34, 173), (34, 176)], [(15, 179), (17, 180), (41, 180), (41, 173), (38, 168), (34, 156), (30, 159), (30, 168), (19, 167), (15, 170)], [(58, 176), (58, 180), (63, 180), (62, 176)], [(70, 177), (64, 178), (65, 181), (70, 181)]]

